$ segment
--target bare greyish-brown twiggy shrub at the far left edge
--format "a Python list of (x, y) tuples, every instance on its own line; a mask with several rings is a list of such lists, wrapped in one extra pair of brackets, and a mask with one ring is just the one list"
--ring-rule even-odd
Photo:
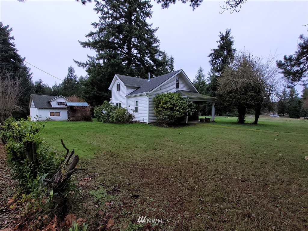
[(0, 111), (2, 123), (3, 120), (12, 116), (13, 112), (22, 111), (22, 108), (18, 106), (18, 101), (23, 91), (21, 89), (22, 79), (19, 76), (16, 76), (10, 70), (4, 70), (0, 75)]

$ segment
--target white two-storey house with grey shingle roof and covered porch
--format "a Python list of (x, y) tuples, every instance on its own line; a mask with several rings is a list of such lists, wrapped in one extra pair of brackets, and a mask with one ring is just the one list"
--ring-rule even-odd
[(160, 93), (179, 92), (183, 98), (190, 101), (212, 102), (212, 121), (215, 115), (216, 98), (201, 95), (183, 70), (173, 71), (150, 79), (140, 79), (132, 76), (115, 74), (109, 86), (111, 100), (117, 107), (126, 107), (135, 120), (153, 123), (153, 97)]

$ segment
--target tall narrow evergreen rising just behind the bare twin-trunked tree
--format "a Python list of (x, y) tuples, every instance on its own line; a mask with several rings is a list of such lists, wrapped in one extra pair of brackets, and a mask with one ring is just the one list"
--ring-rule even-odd
[(231, 29), (225, 30), (225, 34), (219, 32), (218, 46), (211, 49), (209, 63), (211, 65), (211, 75), (209, 83), (209, 95), (215, 97), (217, 91), (217, 80), (221, 76), (225, 67), (228, 67), (235, 58), (236, 49), (233, 48), (234, 40), (231, 36)]

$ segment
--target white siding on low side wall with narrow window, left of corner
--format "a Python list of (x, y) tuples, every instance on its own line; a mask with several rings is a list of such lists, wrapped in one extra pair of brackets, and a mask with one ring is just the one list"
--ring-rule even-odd
[[(135, 97), (130, 97), (128, 99), (128, 111), (135, 115), (135, 120), (148, 123), (148, 96), (139, 95)], [(133, 113), (135, 110), (135, 103), (138, 101), (138, 113)]]

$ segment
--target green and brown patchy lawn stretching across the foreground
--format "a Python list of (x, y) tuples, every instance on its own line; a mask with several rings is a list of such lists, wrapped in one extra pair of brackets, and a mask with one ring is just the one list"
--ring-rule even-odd
[[(42, 133), (61, 152), (63, 139), (88, 169), (78, 175), (75, 213), (91, 229), (108, 213), (115, 230), (305, 230), (308, 121), (252, 120), (180, 128), (48, 121)], [(138, 224), (139, 216), (169, 223)]]

